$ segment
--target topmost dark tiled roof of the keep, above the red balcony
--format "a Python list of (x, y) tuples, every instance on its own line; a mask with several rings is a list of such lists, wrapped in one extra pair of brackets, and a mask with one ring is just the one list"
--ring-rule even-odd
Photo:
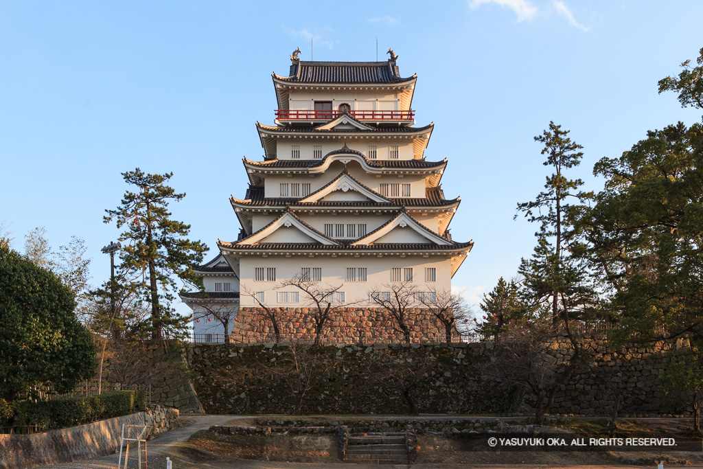
[(396, 65), (387, 62), (299, 62), (290, 66), (290, 77), (278, 77), (299, 83), (398, 83), (401, 78)]

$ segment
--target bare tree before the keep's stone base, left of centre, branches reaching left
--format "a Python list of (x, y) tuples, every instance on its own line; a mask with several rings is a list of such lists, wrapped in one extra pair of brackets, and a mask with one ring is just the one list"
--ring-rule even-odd
[(315, 323), (315, 343), (319, 344), (325, 324), (344, 302), (339, 292), (342, 285), (334, 287), (300, 275), (280, 282), (280, 287), (295, 287), (302, 292), (305, 297), (303, 303), (311, 311), (310, 316)]

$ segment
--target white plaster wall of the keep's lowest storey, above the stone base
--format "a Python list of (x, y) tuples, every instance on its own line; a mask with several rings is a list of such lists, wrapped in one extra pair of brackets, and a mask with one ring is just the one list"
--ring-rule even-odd
[[(437, 281), (430, 283), (437, 290), (451, 289), (451, 259), (446, 255), (431, 255), (422, 257), (421, 255), (408, 255), (399, 257), (397, 255), (365, 255), (354, 257), (354, 255), (340, 255), (331, 257), (330, 255), (269, 255), (268, 257), (255, 257), (244, 255), (240, 260), (243, 289), (250, 292), (264, 292), (265, 303), (272, 306), (278, 305), (276, 302), (276, 290), (278, 282), (285, 278), (292, 278), (300, 274), (301, 267), (321, 267), (322, 283), (327, 285), (342, 284), (340, 291), (344, 291), (347, 303), (363, 300), (363, 305), (368, 306), (368, 292), (375, 287), (381, 287), (385, 283), (390, 283), (392, 267), (413, 267), (413, 280), (418, 285), (418, 291), (428, 291), (430, 288), (425, 282), (425, 267), (437, 269)], [(255, 267), (276, 267), (276, 282), (254, 282)], [(347, 267), (366, 267), (366, 282), (347, 282)], [(283, 288), (279, 291), (294, 291), (292, 288)], [(300, 295), (300, 302), (297, 306), (304, 306), (304, 295)], [(240, 299), (243, 307), (255, 306), (254, 300), (247, 295)], [(295, 306), (295, 304), (280, 304), (280, 306)]]

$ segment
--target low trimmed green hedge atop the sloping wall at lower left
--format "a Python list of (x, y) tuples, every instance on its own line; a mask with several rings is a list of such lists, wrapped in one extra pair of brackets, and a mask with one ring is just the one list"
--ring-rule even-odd
[(6, 416), (6, 420), (14, 420), (14, 425), (39, 425), (44, 430), (53, 430), (126, 416), (143, 410), (145, 404), (143, 390), (127, 390), (51, 401), (22, 401), (13, 407), (14, 415)]

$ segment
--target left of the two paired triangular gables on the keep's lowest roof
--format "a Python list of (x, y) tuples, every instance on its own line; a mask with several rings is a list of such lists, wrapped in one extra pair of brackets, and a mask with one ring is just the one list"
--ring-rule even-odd
[(283, 212), (277, 219), (252, 236), (241, 240), (238, 245), (258, 245), (269, 243), (319, 243), (337, 245), (337, 241), (328, 238), (309, 224), (292, 214)]

